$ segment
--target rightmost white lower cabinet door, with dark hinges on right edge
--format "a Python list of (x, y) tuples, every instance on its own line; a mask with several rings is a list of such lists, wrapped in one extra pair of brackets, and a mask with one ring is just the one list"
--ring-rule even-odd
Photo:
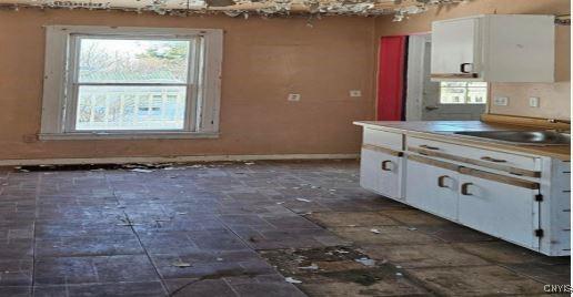
[(537, 190), (460, 175), (459, 221), (505, 240), (539, 248)]

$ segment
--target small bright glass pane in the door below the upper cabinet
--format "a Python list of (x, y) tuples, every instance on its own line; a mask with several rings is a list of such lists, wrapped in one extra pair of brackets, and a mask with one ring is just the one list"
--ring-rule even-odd
[(486, 82), (440, 83), (440, 103), (442, 104), (485, 104), (486, 102)]

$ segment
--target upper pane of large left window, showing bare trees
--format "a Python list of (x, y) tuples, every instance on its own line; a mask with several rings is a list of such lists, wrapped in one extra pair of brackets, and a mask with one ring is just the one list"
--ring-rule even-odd
[(190, 41), (80, 39), (79, 82), (187, 83)]

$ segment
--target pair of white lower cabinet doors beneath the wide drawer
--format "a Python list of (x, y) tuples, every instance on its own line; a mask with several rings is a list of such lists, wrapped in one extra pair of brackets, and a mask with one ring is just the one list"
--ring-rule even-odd
[(539, 249), (539, 183), (418, 155), (408, 156), (406, 182), (408, 204)]

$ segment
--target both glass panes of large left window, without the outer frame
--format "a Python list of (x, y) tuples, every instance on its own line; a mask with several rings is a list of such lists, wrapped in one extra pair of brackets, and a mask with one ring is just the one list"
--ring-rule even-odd
[(192, 39), (88, 35), (76, 42), (74, 130), (184, 129)]

